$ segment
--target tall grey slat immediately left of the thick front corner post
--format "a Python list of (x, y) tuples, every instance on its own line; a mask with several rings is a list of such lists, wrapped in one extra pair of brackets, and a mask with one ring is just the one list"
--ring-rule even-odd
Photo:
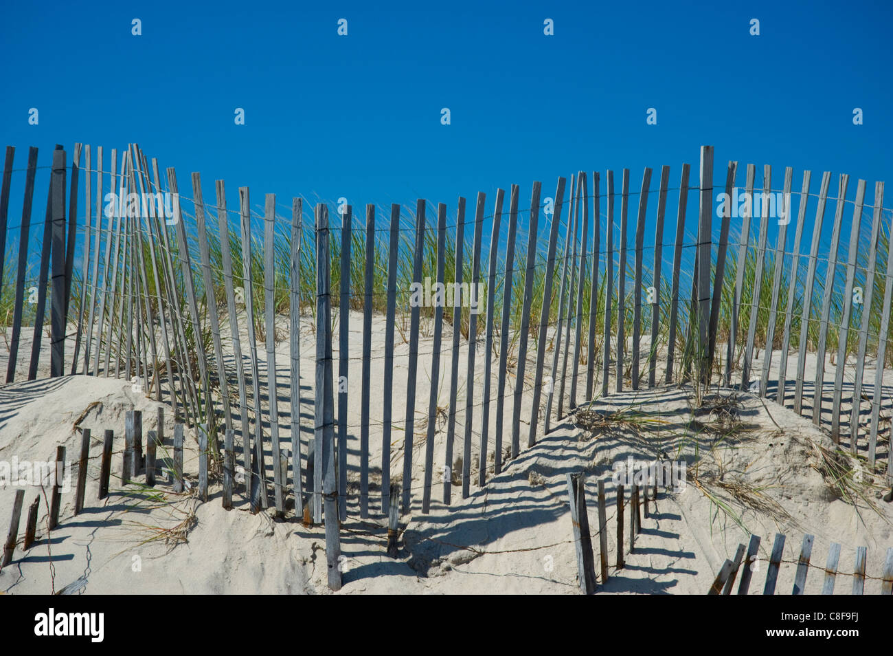
[[(301, 241), (304, 237), (304, 206), (291, 199), (291, 275), (288, 294), (288, 355), (291, 364), (289, 400), (291, 413), (291, 473), (295, 493), (295, 515), (304, 516), (304, 484), (301, 479)], [(235, 457), (235, 456), (234, 456)], [(367, 490), (368, 493), (368, 490)], [(365, 516), (363, 516), (365, 517)]]

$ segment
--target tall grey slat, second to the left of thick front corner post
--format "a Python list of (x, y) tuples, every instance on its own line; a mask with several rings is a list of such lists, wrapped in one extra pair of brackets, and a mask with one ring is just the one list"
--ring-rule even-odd
[[(274, 307), (276, 302), (276, 290), (274, 289), (276, 283), (276, 271), (274, 268), (276, 261), (274, 250), (274, 240), (276, 239), (276, 194), (267, 194), (264, 198), (263, 218), (263, 314), (266, 319), (264, 337), (266, 338), (267, 347), (267, 399), (270, 404), (267, 417), (270, 420), (270, 442), (272, 444), (275, 514), (277, 517), (282, 517), (285, 514), (285, 492), (288, 472), (283, 472), (282, 467), (280, 467), (279, 394), (277, 393), (279, 385), (276, 381), (276, 317)], [(229, 426), (227, 427), (229, 428)]]

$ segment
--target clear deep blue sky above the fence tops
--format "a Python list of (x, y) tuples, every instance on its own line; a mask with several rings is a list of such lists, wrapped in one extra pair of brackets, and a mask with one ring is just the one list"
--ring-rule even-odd
[(797, 190), (812, 169), (814, 192), (829, 169), (832, 192), (848, 172), (849, 196), (862, 177), (870, 199), (873, 181), (893, 181), (893, 9), (781, 4), (5, 0), (0, 142), (23, 168), (31, 145), (50, 164), (55, 143), (135, 141), (177, 168), (181, 190), (202, 172), (206, 198), (222, 178), (250, 186), (253, 203), (265, 192), (355, 208), (422, 197), (451, 212), (459, 195), (473, 208), (477, 191), (513, 182), (526, 206), (530, 181), (552, 195), (578, 169), (614, 168), (619, 185), (629, 167), (638, 189), (644, 166), (656, 186), (670, 164), (673, 187), (689, 162), (697, 184), (698, 147), (711, 144), (717, 184), (737, 159), (742, 185), (747, 163), (757, 184), (772, 164), (773, 187), (793, 166)]

